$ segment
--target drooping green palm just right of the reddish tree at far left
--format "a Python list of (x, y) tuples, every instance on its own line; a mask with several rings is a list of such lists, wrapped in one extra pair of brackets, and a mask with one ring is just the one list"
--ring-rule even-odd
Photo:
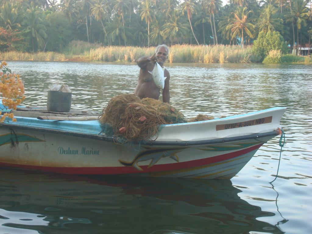
[(30, 38), (32, 40), (32, 51), (35, 52), (34, 41), (37, 41), (39, 48), (43, 48), (45, 43), (44, 39), (46, 35), (46, 27), (42, 24), (42, 20), (39, 17), (39, 8), (31, 7), (27, 9), (27, 14), (22, 22), (26, 26), (25, 31), (29, 32)]

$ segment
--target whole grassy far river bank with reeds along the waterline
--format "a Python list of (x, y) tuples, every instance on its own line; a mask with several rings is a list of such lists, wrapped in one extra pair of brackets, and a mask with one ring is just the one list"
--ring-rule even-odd
[[(154, 54), (154, 47), (134, 46), (83, 46), (79, 43), (71, 45), (63, 53), (19, 51), (3, 52), (1, 60), (6, 61), (102, 61), (102, 62), (134, 62), (142, 56)], [(282, 55), (278, 63), (312, 63), (308, 56)], [(255, 59), (251, 46), (195, 46), (174, 45), (170, 47), (169, 63), (252, 63)], [(271, 62), (270, 62), (271, 61)], [(268, 63), (280, 61), (271, 59)]]

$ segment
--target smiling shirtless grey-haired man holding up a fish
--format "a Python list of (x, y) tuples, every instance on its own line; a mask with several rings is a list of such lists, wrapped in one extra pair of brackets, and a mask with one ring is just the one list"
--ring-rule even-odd
[[(159, 99), (160, 88), (155, 84), (153, 80), (152, 71), (154, 67), (156, 69), (156, 62), (163, 68), (163, 64), (168, 58), (169, 48), (166, 45), (158, 45), (155, 50), (155, 54), (148, 57), (141, 57), (137, 60), (137, 64), (140, 67), (139, 81), (138, 85), (134, 90), (134, 95), (140, 98), (154, 98)], [(163, 68), (163, 77), (166, 77), (164, 80), (163, 87), (163, 102), (170, 101), (169, 93), (169, 79), (170, 74), (167, 69)]]

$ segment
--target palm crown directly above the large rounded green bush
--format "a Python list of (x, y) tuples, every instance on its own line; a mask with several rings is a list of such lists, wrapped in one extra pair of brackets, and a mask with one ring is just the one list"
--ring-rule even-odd
[(277, 8), (273, 5), (266, 5), (263, 8), (263, 11), (260, 15), (258, 23), (255, 24), (256, 28), (259, 28), (259, 31), (267, 33), (269, 31), (276, 31), (283, 27), (283, 20), (280, 18), (274, 18), (274, 15), (277, 13)]

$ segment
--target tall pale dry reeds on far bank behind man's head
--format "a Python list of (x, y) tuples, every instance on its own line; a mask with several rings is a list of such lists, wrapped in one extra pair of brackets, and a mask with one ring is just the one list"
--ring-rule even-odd
[[(101, 46), (90, 49), (91, 61), (123, 61), (134, 62), (142, 56), (154, 54), (154, 47), (134, 46)], [(171, 46), (168, 56), (169, 63), (247, 63), (250, 61), (251, 46)]]

